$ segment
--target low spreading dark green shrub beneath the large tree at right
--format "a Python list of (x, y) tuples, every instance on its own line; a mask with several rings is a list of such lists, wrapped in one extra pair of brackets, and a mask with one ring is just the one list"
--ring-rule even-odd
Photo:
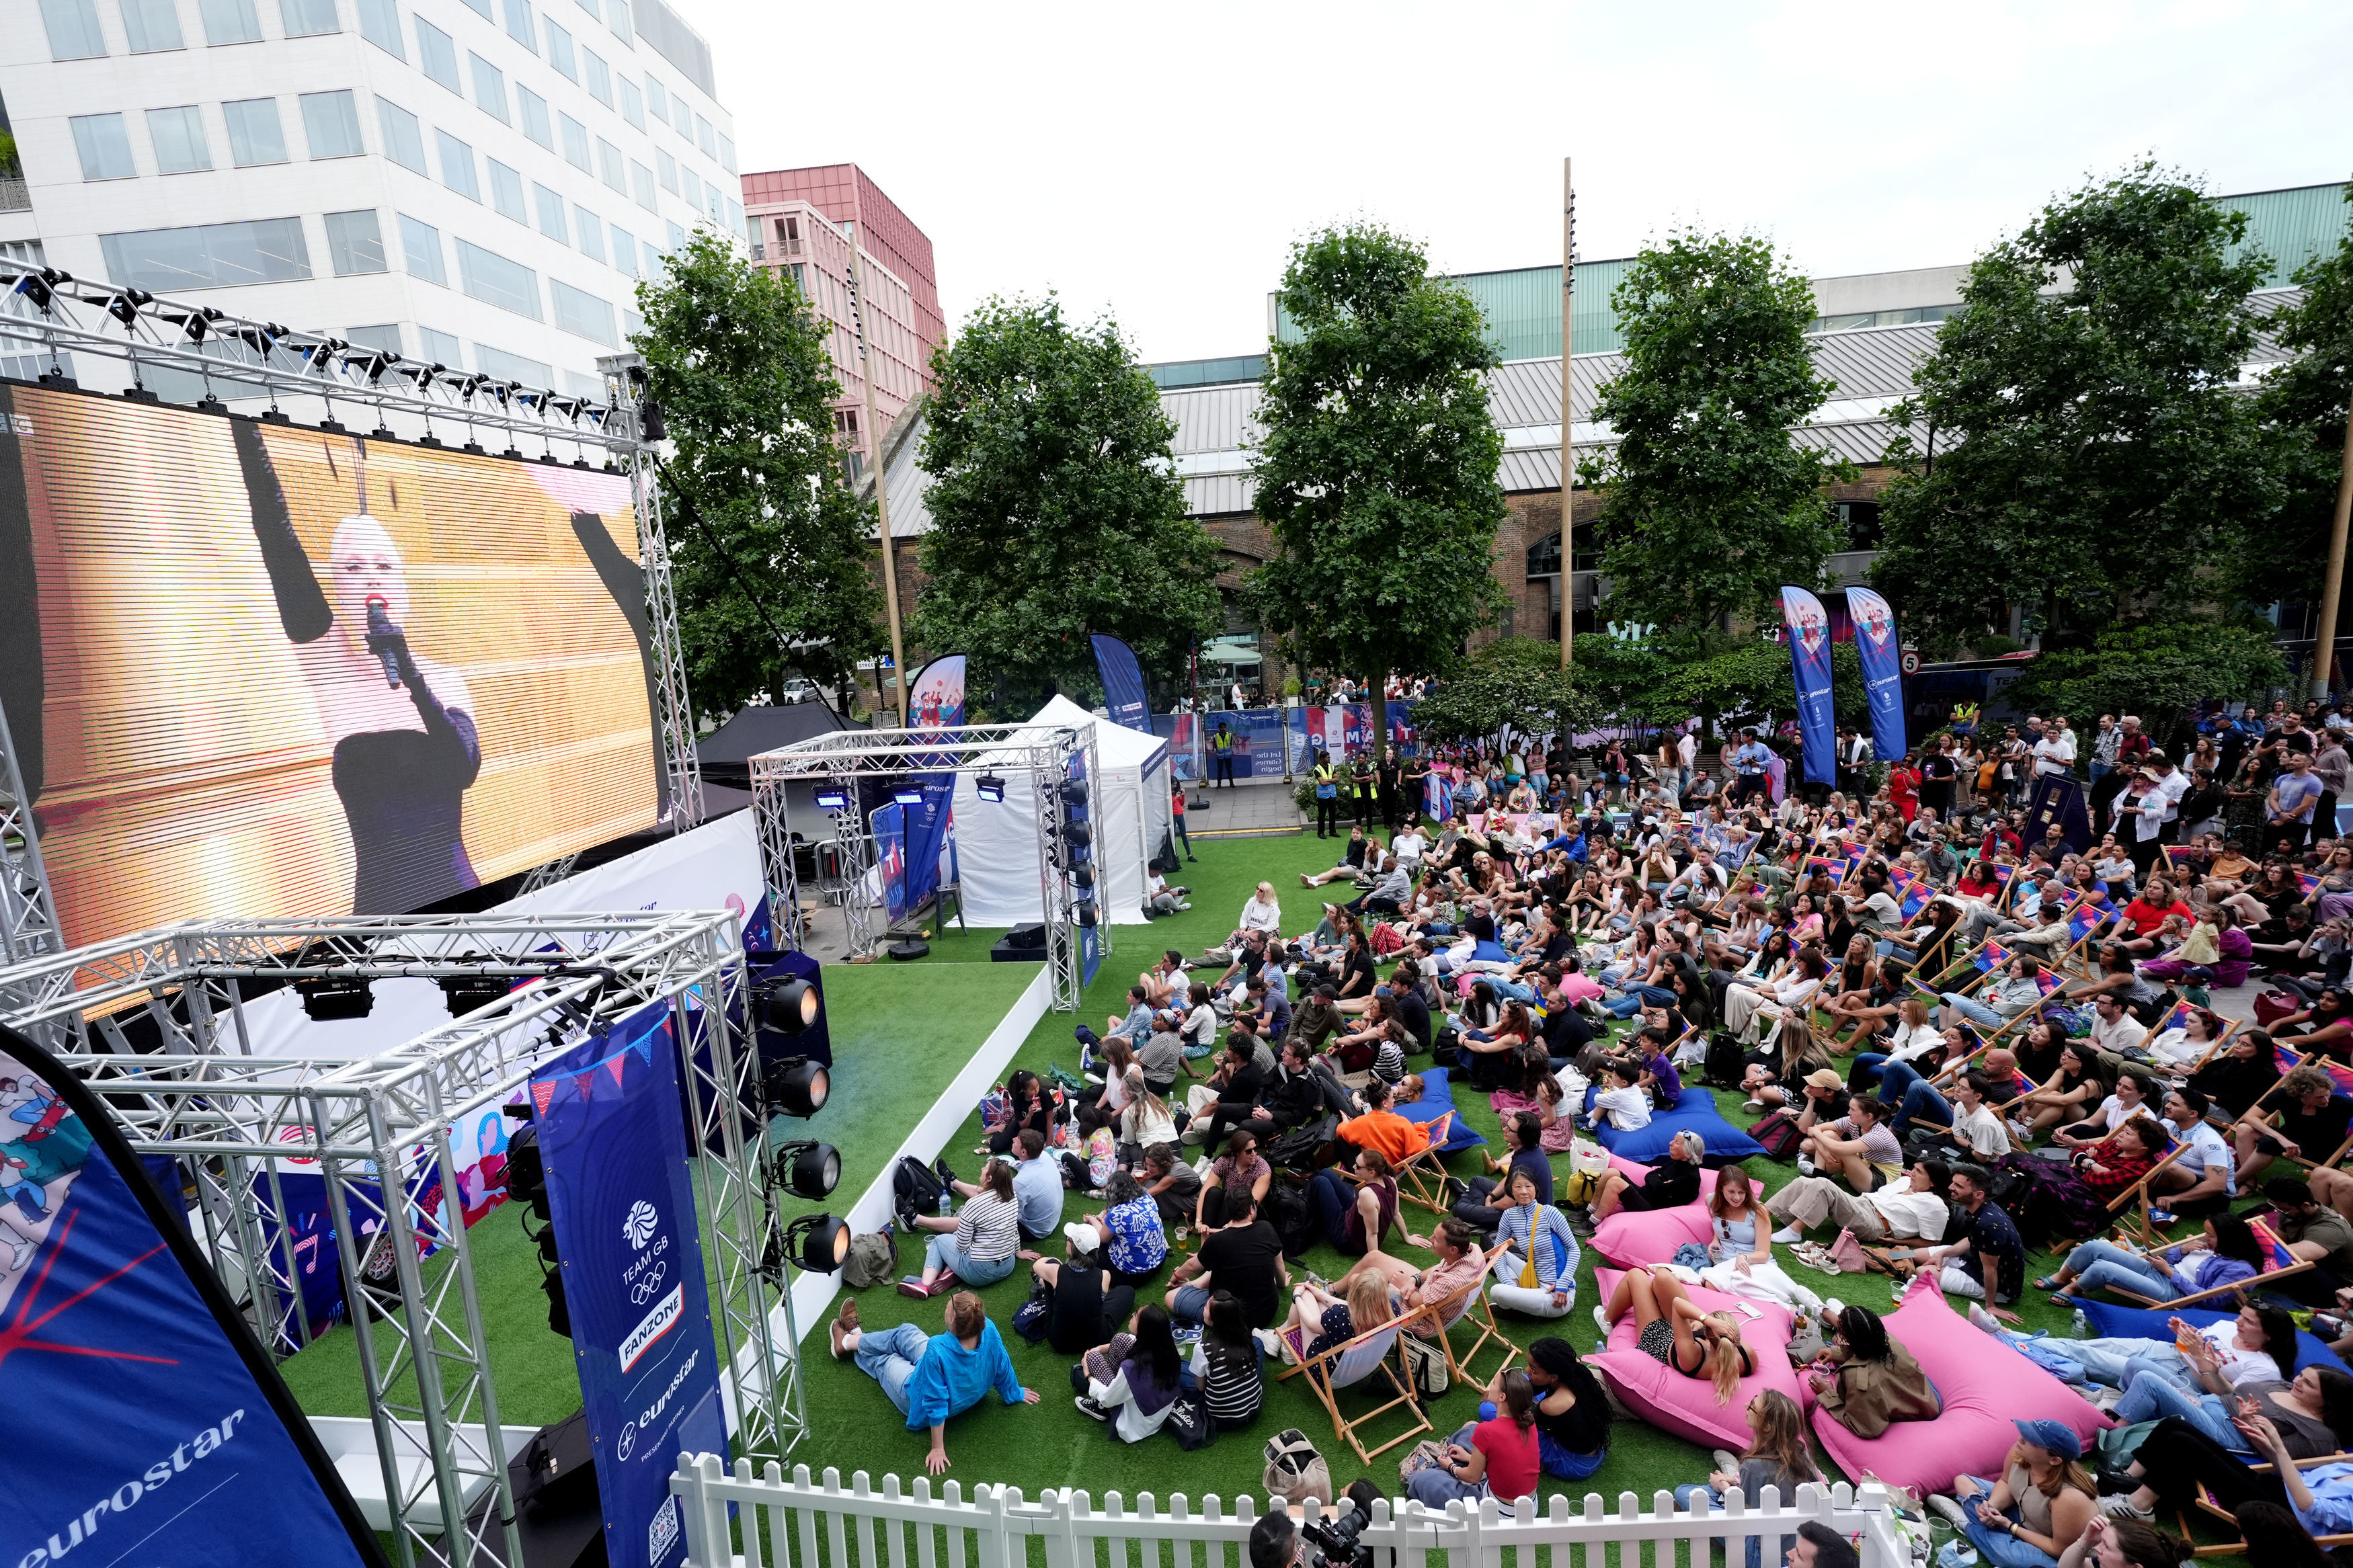
[(2002, 698), (2021, 712), (2139, 712), (2160, 745), (2174, 745), (2198, 703), (2287, 682), (2271, 639), (2268, 625), (2193, 616), (2108, 628), (2087, 649), (2045, 651)]

